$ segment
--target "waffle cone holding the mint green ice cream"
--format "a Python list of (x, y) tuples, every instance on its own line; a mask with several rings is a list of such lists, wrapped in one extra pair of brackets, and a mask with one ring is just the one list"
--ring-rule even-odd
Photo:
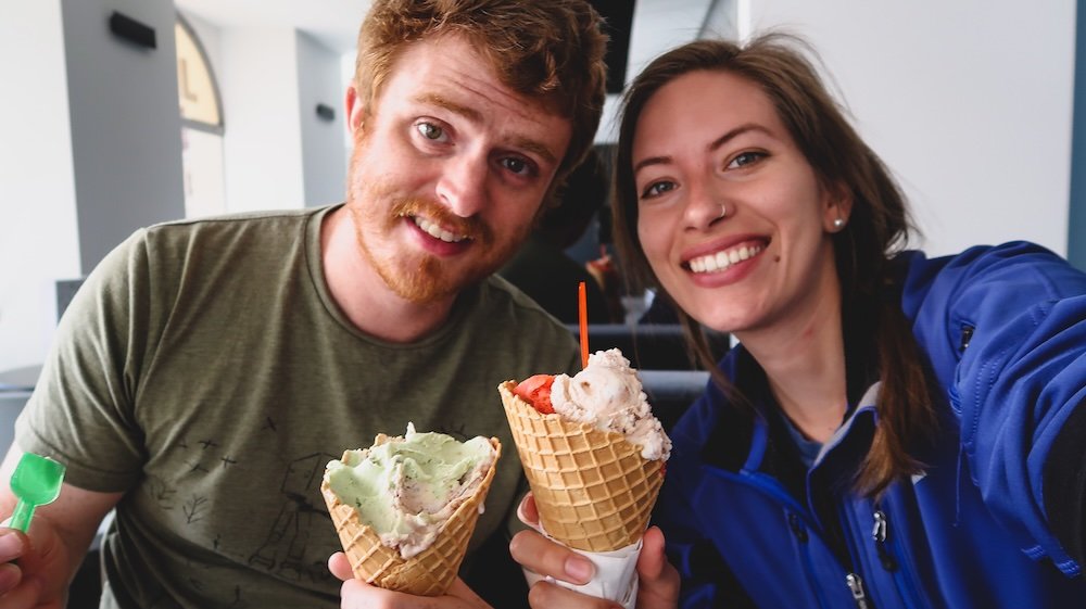
[(416, 596), (444, 594), (456, 579), (460, 562), (464, 561), (480, 508), (494, 480), (497, 459), (502, 455), (501, 443), (494, 437), (490, 439), (490, 443), (495, 451), (494, 461), (475, 494), (456, 508), (430, 547), (406, 559), (400, 556), (399, 548), (382, 544), (377, 532), (358, 518), (358, 511), (342, 503), (327, 481), (321, 482), (320, 494), (328, 505), (328, 513), (336, 524), (354, 576), (386, 589)]

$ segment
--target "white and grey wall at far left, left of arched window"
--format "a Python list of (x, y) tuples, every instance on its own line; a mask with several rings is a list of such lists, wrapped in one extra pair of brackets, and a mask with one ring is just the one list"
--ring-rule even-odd
[[(184, 214), (172, 2), (3, 1), (0, 81), (17, 94), (0, 99), (0, 370), (45, 359), (56, 280)], [(113, 11), (157, 48), (113, 36)]]

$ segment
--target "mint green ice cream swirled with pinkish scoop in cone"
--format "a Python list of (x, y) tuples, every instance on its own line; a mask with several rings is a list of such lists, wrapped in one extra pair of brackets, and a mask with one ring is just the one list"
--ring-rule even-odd
[(458, 442), (443, 433), (377, 436), (374, 446), (348, 451), (325, 469), (325, 480), (358, 519), (403, 558), (428, 548), (441, 525), (470, 497), (494, 461), (490, 441)]

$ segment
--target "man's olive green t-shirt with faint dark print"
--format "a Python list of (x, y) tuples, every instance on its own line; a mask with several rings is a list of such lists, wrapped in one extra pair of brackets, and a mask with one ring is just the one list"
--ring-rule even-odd
[(502, 442), (472, 547), (515, 509), (497, 385), (572, 373), (572, 337), (498, 278), (417, 342), (361, 332), (321, 268), (332, 208), (140, 230), (73, 300), (16, 437), (75, 486), (126, 492), (103, 607), (339, 607), (325, 465), (408, 421)]

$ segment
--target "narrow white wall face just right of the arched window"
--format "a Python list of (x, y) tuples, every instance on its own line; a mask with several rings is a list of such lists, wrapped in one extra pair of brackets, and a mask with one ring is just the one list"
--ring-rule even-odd
[(220, 31), (226, 207), (287, 210), (305, 204), (298, 37), (290, 27)]

